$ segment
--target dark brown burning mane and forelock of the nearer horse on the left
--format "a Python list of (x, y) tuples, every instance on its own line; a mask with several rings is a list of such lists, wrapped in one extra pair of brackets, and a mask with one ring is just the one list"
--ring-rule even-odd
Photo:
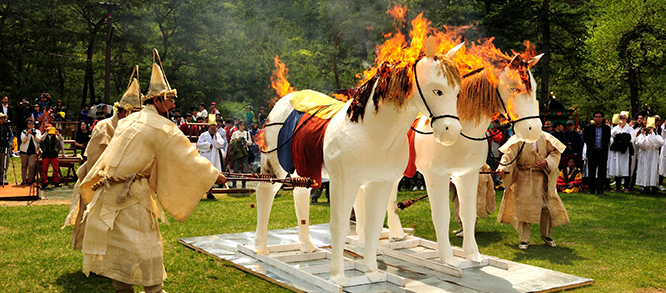
[[(421, 54), (418, 60), (424, 55)], [(441, 60), (439, 63), (437, 74), (444, 73), (446, 79), (449, 82), (450, 86), (460, 85), (462, 83), (462, 77), (458, 71), (458, 67), (455, 62), (446, 55), (436, 55), (437, 60)], [(373, 93), (373, 87), (375, 83), (377, 86), (374, 91), (374, 104), (375, 104), (375, 114), (379, 110), (379, 105), (382, 101), (386, 101), (395, 105), (398, 108), (405, 106), (405, 102), (410, 97), (412, 92), (412, 75), (414, 74), (413, 68), (414, 63), (409, 66), (397, 67), (390, 63), (382, 63), (377, 69), (377, 73), (370, 80), (366, 81), (354, 95), (349, 109), (347, 109), (347, 116), (350, 117), (352, 122), (358, 122), (359, 119), (363, 120), (365, 116), (365, 107), (368, 104), (368, 100)]]

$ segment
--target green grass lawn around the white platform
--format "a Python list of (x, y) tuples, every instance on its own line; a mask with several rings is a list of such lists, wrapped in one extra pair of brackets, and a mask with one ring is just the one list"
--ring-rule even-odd
[[(399, 200), (423, 195), (400, 192)], [(529, 249), (518, 250), (516, 231), (479, 220), (481, 253), (596, 280), (576, 292), (666, 292), (666, 195), (561, 194), (571, 223), (554, 229), (557, 248), (546, 247), (533, 225)], [(320, 199), (321, 200), (321, 199)], [(501, 193), (497, 194), (497, 203)], [(254, 231), (254, 197), (202, 200), (184, 223), (161, 225), (168, 292), (278, 292), (281, 287), (177, 243), (177, 238)], [(105, 277), (81, 273), (82, 254), (72, 250), (71, 227), (60, 229), (68, 206), (0, 207), (0, 292), (113, 292)], [(313, 224), (327, 223), (326, 203), (311, 207)], [(416, 236), (435, 240), (430, 206), (422, 200), (400, 213)], [(296, 226), (290, 192), (273, 206), (269, 229)], [(456, 224), (453, 224), (456, 225)], [(457, 227), (455, 227), (457, 228)], [(452, 238), (461, 246), (462, 239)], [(143, 290), (136, 287), (137, 292)]]

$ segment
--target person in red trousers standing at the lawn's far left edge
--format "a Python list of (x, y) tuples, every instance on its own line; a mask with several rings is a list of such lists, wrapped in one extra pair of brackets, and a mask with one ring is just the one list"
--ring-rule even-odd
[(62, 185), (60, 184), (58, 155), (61, 151), (60, 142), (63, 139), (55, 126), (47, 124), (44, 129), (46, 133), (39, 138), (39, 141), (42, 142), (42, 188), (49, 185), (49, 165), (53, 168), (53, 184), (55, 187), (60, 187)]

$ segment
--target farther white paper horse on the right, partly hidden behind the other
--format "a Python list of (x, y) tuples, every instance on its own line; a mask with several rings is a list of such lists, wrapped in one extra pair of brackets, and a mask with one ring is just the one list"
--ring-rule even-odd
[[(534, 66), (542, 55), (524, 61), (520, 55), (511, 60), (499, 72), (499, 83), (492, 85), (487, 78), (488, 69), (470, 74), (463, 80), (458, 100), (458, 113), (462, 133), (472, 138), (483, 138), (491, 117), (500, 112), (514, 121), (514, 131), (522, 141), (536, 141), (541, 133), (541, 121), (536, 99), (536, 82), (529, 68)], [(522, 77), (522, 78), (521, 78)], [(498, 95), (499, 94), (499, 95)], [(504, 107), (506, 105), (506, 108)], [(431, 128), (422, 117), (417, 130), (428, 133)], [(436, 143), (432, 135), (416, 134), (414, 137), (416, 167), (423, 174), (432, 210), (432, 220), (437, 234), (437, 248), (440, 259), (450, 265), (459, 266), (454, 258), (449, 242), (449, 181), (455, 178), (460, 199), (460, 217), (463, 224), (463, 252), (468, 260), (480, 261), (480, 254), (474, 238), (476, 223), (476, 193), (479, 169), (486, 161), (488, 142), (461, 138), (452, 145)], [(388, 205), (389, 236), (393, 239), (405, 237), (396, 210), (398, 183), (391, 189)], [(363, 211), (362, 207), (357, 210)], [(363, 216), (357, 218), (358, 227), (366, 225)], [(362, 232), (360, 232), (362, 233)]]

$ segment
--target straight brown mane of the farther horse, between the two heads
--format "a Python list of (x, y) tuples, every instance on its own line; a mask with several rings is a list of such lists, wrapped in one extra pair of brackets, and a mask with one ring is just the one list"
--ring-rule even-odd
[(497, 86), (488, 80), (489, 73), (489, 69), (472, 71), (463, 79), (457, 103), (461, 120), (474, 120), (478, 124), (497, 112), (499, 94)]

